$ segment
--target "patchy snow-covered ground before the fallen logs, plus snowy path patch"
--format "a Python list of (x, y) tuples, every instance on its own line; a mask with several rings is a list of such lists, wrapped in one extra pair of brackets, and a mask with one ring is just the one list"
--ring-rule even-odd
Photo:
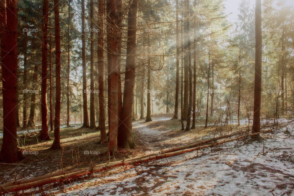
[[(142, 134), (150, 132), (140, 124), (134, 126), (139, 126)], [(293, 125), (287, 130), (266, 134), (264, 141), (244, 144), (239, 140), (131, 169), (114, 168), (103, 178), (46, 192), (58, 196), (294, 195)], [(150, 134), (157, 137), (162, 133), (153, 130)]]

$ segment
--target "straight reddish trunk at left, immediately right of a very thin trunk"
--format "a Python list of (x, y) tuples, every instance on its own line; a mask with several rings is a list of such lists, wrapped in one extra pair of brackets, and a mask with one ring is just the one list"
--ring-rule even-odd
[(51, 149), (61, 149), (60, 145), (60, 101), (61, 101), (61, 77), (60, 77), (60, 24), (59, 24), (59, 0), (54, 0), (55, 23), (55, 118), (54, 141)]

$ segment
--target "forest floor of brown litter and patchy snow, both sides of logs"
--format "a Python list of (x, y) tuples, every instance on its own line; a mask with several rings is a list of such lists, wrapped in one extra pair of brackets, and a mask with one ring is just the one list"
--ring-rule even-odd
[[(0, 182), (92, 166), (123, 157), (156, 154), (160, 149), (186, 145), (245, 127), (223, 126), (221, 133), (219, 126), (207, 129), (198, 126), (191, 131), (181, 131), (178, 120), (155, 118), (148, 123), (137, 120), (133, 123), (136, 148), (126, 152), (121, 149), (110, 160), (103, 154), (107, 144), (97, 143), (100, 134), (96, 130), (63, 129), (62, 151), (49, 150), (52, 141), (40, 142), (36, 136), (31, 136), (20, 140), (22, 148), (38, 153), (26, 155), (20, 165), (0, 165)], [(41, 193), (38, 188), (26, 190), (22, 195), (293, 195), (293, 124), (288, 125), (287, 130), (262, 135), (262, 141), (247, 138), (136, 166), (112, 168), (43, 186)], [(53, 133), (50, 137), (53, 138)], [(90, 150), (99, 154), (84, 154)]]

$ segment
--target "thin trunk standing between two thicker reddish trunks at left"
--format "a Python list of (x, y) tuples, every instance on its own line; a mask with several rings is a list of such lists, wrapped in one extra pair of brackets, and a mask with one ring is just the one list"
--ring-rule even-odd
[[(51, 26), (51, 20), (49, 18)], [(53, 109), (52, 109), (52, 60), (51, 60), (51, 30), (49, 34), (49, 108), (50, 108), (50, 131), (53, 131)]]

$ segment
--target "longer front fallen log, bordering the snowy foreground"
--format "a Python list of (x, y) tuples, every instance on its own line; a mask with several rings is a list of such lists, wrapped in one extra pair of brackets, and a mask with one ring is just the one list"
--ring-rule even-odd
[[(9, 192), (15, 192), (15, 191), (19, 191), (19, 190), (30, 189), (30, 188), (33, 188), (33, 187), (40, 187), (40, 186), (45, 185), (45, 184), (54, 183), (54, 182), (58, 182), (58, 181), (62, 181), (62, 180), (70, 179), (70, 178), (75, 178), (75, 177), (85, 175), (85, 174), (91, 174), (91, 173), (95, 173), (95, 172), (106, 170), (106, 169), (113, 168), (113, 167), (118, 167), (118, 166), (123, 166), (123, 165), (135, 165), (135, 164), (140, 164), (142, 162), (148, 162), (148, 161), (151, 161), (151, 160), (166, 158), (166, 157), (169, 157), (169, 156), (175, 156), (175, 155), (191, 152), (191, 151), (194, 151), (194, 150), (213, 147), (215, 145), (220, 145), (220, 144), (223, 144), (225, 142), (238, 140), (238, 139), (241, 139), (241, 138), (244, 138), (244, 137), (266, 133), (266, 132), (269, 132), (271, 130), (272, 129), (262, 131), (262, 132), (258, 132), (258, 133), (254, 133), (254, 134), (246, 134), (246, 135), (242, 135), (242, 136), (239, 136), (237, 138), (232, 138), (232, 139), (224, 138), (224, 140), (222, 140), (222, 141), (218, 141), (218, 142), (208, 144), (208, 145), (197, 146), (197, 147), (194, 147), (194, 148), (181, 149), (181, 150), (177, 150), (177, 151), (173, 151), (173, 152), (151, 155), (151, 156), (148, 156), (148, 157), (143, 157), (142, 156), (142, 157), (140, 157), (138, 159), (135, 159), (135, 160), (116, 161), (116, 162), (112, 162), (112, 163), (108, 163), (108, 164), (104, 164), (104, 165), (97, 165), (97, 166), (94, 166), (93, 168), (79, 168), (79, 169), (72, 170), (73, 172), (67, 172), (66, 174), (63, 174), (63, 175), (48, 177), (48, 178), (45, 178), (45, 179), (40, 179), (40, 178), (37, 177), (37, 178), (34, 178), (35, 181), (33, 181), (34, 179), (28, 179), (28, 180), (24, 180), (23, 182), (20, 182), (17, 185), (7, 186), (7, 184), (6, 184), (6, 186), (5, 185), (1, 186), (0, 193), (5, 194), (5, 193), (9, 193)], [(174, 148), (174, 149), (177, 149), (177, 148)], [(45, 175), (45, 176), (47, 176), (47, 175)], [(40, 177), (42, 177), (42, 176), (40, 176)], [(29, 180), (30, 180), (30, 182), (28, 182)]]

